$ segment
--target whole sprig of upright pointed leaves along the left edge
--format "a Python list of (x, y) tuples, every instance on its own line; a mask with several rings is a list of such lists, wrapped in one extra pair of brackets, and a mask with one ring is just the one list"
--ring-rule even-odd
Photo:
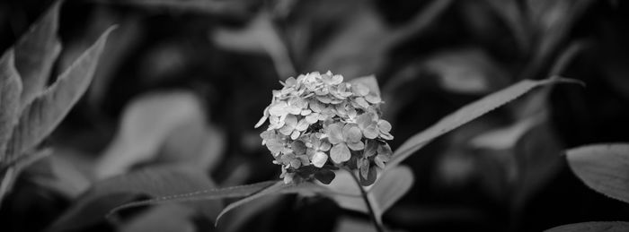
[(0, 58), (0, 201), (23, 168), (49, 155), (40, 144), (59, 125), (92, 82), (106, 39), (102, 36), (47, 86), (59, 53), (56, 39), (59, 4), (53, 4), (29, 33)]

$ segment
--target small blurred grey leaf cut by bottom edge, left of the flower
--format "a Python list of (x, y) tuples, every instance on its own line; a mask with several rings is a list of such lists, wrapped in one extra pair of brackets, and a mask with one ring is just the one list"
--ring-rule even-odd
[(120, 228), (122, 232), (141, 231), (181, 231), (194, 232), (195, 226), (190, 221), (194, 211), (176, 204), (166, 204), (155, 207), (152, 211), (132, 219)]

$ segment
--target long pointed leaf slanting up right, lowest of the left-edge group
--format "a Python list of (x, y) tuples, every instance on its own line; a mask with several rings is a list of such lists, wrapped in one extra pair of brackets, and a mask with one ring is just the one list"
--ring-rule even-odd
[(92, 82), (102, 49), (114, 29), (115, 26), (105, 30), (92, 47), (58, 76), (57, 82), (23, 107), (22, 115), (18, 124), (13, 127), (13, 135), (8, 143), (9, 157), (19, 156), (40, 143), (63, 120)]

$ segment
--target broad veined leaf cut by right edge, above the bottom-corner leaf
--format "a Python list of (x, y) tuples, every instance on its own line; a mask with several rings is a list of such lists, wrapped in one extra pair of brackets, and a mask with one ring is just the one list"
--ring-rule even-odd
[(629, 144), (606, 143), (566, 150), (572, 172), (608, 197), (629, 202)]

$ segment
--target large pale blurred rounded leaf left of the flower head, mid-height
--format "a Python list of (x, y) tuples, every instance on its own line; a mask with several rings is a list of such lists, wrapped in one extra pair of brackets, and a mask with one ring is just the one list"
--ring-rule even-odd
[(208, 168), (217, 164), (224, 143), (225, 135), (207, 125), (197, 96), (187, 91), (154, 92), (125, 108), (119, 131), (95, 173), (98, 178), (115, 176), (157, 158)]

